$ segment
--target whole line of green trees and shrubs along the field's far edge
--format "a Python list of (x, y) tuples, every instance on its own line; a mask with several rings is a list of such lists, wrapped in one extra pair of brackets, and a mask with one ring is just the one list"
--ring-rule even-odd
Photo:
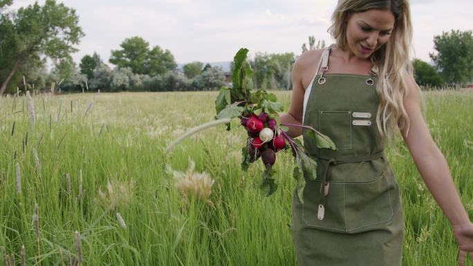
[[(111, 50), (110, 67), (97, 53), (85, 55), (77, 66), (71, 54), (84, 37), (73, 8), (46, 0), (8, 11), (12, 0), (0, 0), (0, 95), (19, 88), (62, 91), (203, 91), (227, 85), (230, 73), (194, 61), (177, 69), (174, 56), (142, 37), (124, 39)], [(310, 36), (307, 50), (324, 48)], [(434, 37), (433, 65), (414, 59), (416, 82), (421, 86), (468, 84), (473, 77), (472, 31), (452, 30)], [(46, 59), (53, 68), (46, 69)], [(294, 53), (256, 53), (250, 60), (254, 84), (264, 89), (292, 88)], [(225, 75), (227, 76), (225, 78)]]

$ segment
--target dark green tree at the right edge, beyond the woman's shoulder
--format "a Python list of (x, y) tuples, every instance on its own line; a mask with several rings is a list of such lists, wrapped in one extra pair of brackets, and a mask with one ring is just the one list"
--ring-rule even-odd
[(473, 77), (472, 31), (452, 30), (434, 36), (437, 53), (430, 57), (448, 83), (470, 82)]

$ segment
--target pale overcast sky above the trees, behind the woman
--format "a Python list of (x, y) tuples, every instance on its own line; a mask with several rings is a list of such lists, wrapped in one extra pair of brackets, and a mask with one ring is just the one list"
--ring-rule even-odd
[[(94, 51), (108, 62), (128, 37), (168, 49), (180, 64), (232, 61), (241, 47), (299, 55), (308, 36), (327, 33), (335, 0), (64, 0), (79, 15), (85, 33), (73, 55), (78, 63)], [(34, 1), (14, 0), (12, 8)], [(39, 1), (44, 3), (44, 1)], [(431, 61), (434, 35), (472, 30), (472, 0), (411, 0), (415, 57)]]

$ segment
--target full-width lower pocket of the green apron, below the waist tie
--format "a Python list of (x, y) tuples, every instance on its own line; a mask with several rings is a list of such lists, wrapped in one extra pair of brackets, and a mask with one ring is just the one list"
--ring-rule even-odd
[(330, 182), (323, 220), (317, 218), (320, 184), (306, 179), (302, 220), (309, 227), (358, 233), (382, 228), (393, 218), (391, 190), (395, 187), (385, 173), (368, 182)]

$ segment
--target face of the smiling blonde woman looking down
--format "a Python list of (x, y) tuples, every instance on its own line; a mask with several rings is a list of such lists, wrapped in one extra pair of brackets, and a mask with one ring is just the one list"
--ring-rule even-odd
[(394, 15), (389, 10), (371, 9), (349, 14), (346, 39), (350, 52), (359, 58), (369, 58), (387, 43), (394, 28), (394, 22)]

